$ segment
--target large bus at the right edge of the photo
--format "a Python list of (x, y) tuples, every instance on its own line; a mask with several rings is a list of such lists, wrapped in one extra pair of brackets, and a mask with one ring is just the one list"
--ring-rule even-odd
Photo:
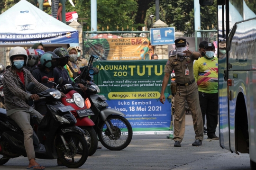
[(217, 0), (217, 5), (219, 143), (230, 152), (249, 153), (256, 170), (256, 0)]

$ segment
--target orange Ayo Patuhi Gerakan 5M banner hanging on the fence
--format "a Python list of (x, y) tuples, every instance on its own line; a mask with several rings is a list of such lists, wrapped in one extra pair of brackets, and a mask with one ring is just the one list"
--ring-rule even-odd
[(83, 53), (101, 60), (150, 60), (154, 48), (146, 37), (85, 39)]

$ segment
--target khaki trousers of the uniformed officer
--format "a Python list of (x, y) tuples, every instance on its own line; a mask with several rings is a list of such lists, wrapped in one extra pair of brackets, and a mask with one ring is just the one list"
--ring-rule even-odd
[(174, 99), (174, 141), (182, 142), (185, 133), (185, 100), (192, 113), (195, 138), (203, 140), (203, 121), (198, 98), (198, 87), (194, 82), (189, 86), (177, 86)]

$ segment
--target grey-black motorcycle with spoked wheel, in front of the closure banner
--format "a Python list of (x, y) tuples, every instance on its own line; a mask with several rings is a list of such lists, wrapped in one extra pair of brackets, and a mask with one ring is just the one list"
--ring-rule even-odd
[(99, 95), (100, 89), (90, 80), (89, 73), (95, 75), (99, 72), (97, 68), (91, 68), (93, 59), (99, 58), (97, 55), (91, 55), (87, 67), (81, 68), (80, 83), (86, 87), (84, 98), (91, 102), (91, 110), (95, 114), (91, 119), (96, 124), (94, 129), (99, 136), (101, 144), (109, 150), (122, 150), (128, 146), (132, 140), (132, 127), (129, 121), (123, 117), (122, 112), (108, 108), (107, 98)]

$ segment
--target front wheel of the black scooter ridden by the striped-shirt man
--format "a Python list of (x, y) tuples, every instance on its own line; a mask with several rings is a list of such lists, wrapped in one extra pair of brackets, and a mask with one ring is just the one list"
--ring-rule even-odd
[[(58, 159), (68, 168), (81, 167), (88, 157), (88, 145), (85, 138), (81, 134), (65, 133), (64, 140), (67, 143), (68, 150), (59, 137), (56, 143)], [(79, 152), (78, 148), (80, 148)]]

